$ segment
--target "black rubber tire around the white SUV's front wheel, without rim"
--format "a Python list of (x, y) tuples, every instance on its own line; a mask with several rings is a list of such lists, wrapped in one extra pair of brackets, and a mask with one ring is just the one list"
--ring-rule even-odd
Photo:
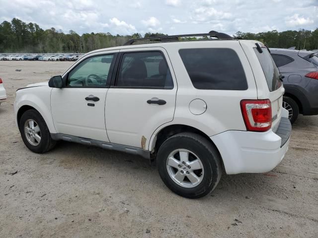
[[(40, 127), (41, 140), (38, 145), (30, 144), (24, 133), (24, 124), (28, 119), (34, 120)], [(28, 110), (23, 113), (19, 123), (19, 130), (25, 146), (35, 153), (45, 153), (52, 150), (56, 145), (56, 141), (52, 139), (49, 128), (47, 127), (44, 119), (41, 114), (35, 110)]]

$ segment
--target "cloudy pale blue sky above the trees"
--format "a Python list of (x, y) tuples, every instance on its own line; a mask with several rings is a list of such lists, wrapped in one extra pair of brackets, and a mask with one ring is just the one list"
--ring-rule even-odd
[(42, 29), (169, 35), (315, 30), (318, 0), (0, 0), (0, 22), (13, 17)]

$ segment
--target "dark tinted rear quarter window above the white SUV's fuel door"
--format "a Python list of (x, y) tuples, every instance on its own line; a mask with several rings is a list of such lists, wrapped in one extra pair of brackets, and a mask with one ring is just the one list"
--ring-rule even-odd
[(228, 48), (181, 49), (179, 54), (195, 88), (247, 89), (244, 69), (234, 50)]

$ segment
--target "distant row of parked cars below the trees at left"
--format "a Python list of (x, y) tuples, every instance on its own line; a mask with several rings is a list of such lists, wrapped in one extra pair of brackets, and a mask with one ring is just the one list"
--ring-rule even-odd
[(0, 60), (76, 61), (82, 54), (0, 55)]

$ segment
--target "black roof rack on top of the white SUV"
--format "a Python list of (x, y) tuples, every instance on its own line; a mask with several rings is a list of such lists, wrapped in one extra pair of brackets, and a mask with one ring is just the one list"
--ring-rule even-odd
[(210, 31), (209, 33), (202, 33), (202, 34), (186, 34), (186, 35), (173, 35), (173, 36), (156, 36), (156, 37), (147, 37), (147, 38), (139, 38), (139, 39), (131, 39), (127, 41), (124, 46), (129, 46), (134, 44), (138, 41), (159, 41), (159, 42), (169, 42), (169, 41), (178, 41), (179, 37), (196, 37), (196, 36), (209, 36), (215, 37), (219, 40), (233, 40), (234, 38), (229, 36), (228, 34), (217, 32), (217, 31)]

